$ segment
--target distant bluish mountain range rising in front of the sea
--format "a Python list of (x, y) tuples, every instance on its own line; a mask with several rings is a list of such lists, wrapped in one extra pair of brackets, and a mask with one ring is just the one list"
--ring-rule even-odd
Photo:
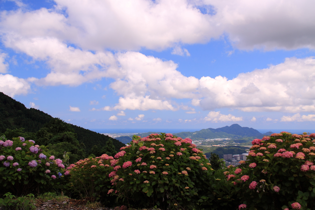
[[(147, 133), (139, 133), (136, 134), (140, 137), (146, 137), (154, 132), (147, 132)], [(238, 124), (233, 124), (231, 126), (225, 126), (222, 128), (207, 128), (202, 129), (200, 131), (194, 132), (180, 132), (180, 133), (173, 133), (174, 136), (181, 137), (181, 138), (191, 138), (192, 140), (204, 140), (204, 139), (215, 139), (215, 138), (231, 138), (235, 139), (235, 141), (242, 141), (245, 139), (246, 141), (253, 140), (255, 138), (262, 138), (264, 136), (269, 136), (272, 132), (261, 133), (254, 128), (249, 127), (242, 127)], [(132, 136), (129, 136), (129, 138)], [(129, 138), (126, 137), (118, 137), (120, 141), (125, 143), (128, 141)]]

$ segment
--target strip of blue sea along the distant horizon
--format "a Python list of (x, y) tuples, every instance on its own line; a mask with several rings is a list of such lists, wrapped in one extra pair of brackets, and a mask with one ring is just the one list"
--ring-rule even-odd
[[(179, 132), (194, 132), (200, 131), (203, 128), (105, 128), (105, 129), (89, 129), (97, 133), (146, 133), (146, 132), (163, 132), (163, 133), (179, 133)], [(315, 129), (256, 129), (261, 133), (272, 131), (273, 133), (280, 133), (287, 131), (290, 133), (301, 134), (303, 132), (315, 133)]]

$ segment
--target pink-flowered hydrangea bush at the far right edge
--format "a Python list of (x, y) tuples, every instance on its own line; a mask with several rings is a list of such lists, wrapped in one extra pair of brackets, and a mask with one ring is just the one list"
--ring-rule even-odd
[(224, 172), (239, 209), (315, 209), (315, 134), (254, 139), (248, 161)]

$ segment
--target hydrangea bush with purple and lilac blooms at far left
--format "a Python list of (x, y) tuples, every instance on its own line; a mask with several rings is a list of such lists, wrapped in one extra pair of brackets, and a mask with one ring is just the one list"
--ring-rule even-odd
[(3, 135), (0, 139), (0, 195), (38, 195), (60, 185), (65, 166), (45, 146), (23, 137), (7, 140)]

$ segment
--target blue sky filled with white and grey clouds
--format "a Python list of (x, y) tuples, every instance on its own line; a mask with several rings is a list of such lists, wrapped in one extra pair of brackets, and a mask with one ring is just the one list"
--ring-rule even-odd
[(88, 129), (312, 129), (314, 4), (1, 1), (0, 91)]

